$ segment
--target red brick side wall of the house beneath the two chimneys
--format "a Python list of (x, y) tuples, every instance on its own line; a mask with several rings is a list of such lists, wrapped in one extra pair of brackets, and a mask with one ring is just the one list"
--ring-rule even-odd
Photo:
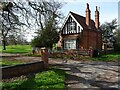
[(101, 50), (101, 43), (101, 33), (92, 30), (83, 30), (79, 47), (83, 47), (84, 49), (92, 47), (93, 49)]

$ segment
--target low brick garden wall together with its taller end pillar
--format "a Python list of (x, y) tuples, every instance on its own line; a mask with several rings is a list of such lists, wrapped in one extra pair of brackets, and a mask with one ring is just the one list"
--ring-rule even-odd
[(46, 48), (41, 48), (41, 59), (42, 61), (39, 62), (0, 67), (2, 69), (2, 79), (37, 73), (48, 68), (48, 50)]

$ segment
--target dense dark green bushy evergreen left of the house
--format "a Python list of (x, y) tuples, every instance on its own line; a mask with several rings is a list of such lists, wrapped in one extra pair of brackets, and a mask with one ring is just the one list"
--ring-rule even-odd
[(52, 48), (52, 45), (58, 41), (58, 33), (52, 23), (41, 30), (40, 34), (32, 40), (32, 45), (37, 47)]

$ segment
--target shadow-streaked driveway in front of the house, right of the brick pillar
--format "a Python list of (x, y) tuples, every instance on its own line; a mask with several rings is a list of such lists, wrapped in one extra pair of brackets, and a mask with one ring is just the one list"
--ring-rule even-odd
[(73, 90), (73, 88), (91, 88), (90, 90), (112, 88), (110, 90), (119, 90), (118, 68), (120, 67), (117, 62), (73, 60), (66, 62), (60, 59), (50, 59), (50, 63), (68, 73), (66, 80), (68, 90)]

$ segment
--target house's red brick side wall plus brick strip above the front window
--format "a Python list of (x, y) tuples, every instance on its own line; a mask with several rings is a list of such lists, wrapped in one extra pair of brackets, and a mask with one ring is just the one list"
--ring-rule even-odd
[(72, 39), (79, 38), (79, 48), (83, 47), (83, 49), (89, 49), (92, 47), (93, 49), (101, 50), (102, 46), (102, 38), (101, 33), (93, 30), (83, 30), (81, 34), (72, 34), (72, 35), (64, 35), (63, 39)]

